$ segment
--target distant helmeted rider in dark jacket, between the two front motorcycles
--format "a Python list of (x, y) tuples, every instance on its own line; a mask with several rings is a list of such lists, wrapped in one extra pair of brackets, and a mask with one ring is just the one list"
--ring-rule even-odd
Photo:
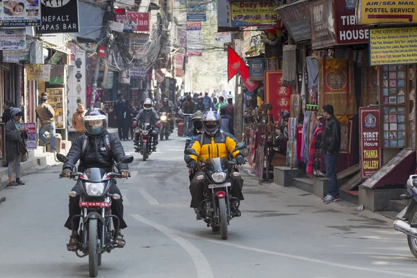
[[(158, 113), (152, 108), (152, 100), (151, 99), (145, 99), (143, 101), (143, 108), (139, 111), (138, 115), (136, 116), (136, 121), (138, 121), (138, 124), (145, 124), (148, 123), (152, 126), (151, 136), (154, 138), (153, 145), (152, 145), (152, 151), (156, 152), (156, 145), (158, 145), (158, 134), (159, 134), (159, 128), (161, 127), (161, 121), (159, 120)], [(138, 144), (139, 140), (139, 133), (135, 133), (135, 145)]]

